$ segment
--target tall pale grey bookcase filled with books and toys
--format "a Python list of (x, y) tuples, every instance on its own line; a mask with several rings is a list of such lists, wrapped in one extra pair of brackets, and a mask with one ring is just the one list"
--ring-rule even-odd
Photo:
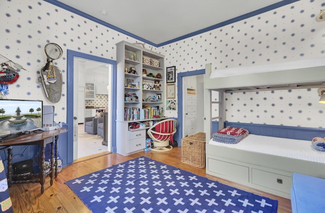
[(146, 133), (143, 128), (130, 134), (128, 125), (164, 119), (165, 56), (125, 41), (116, 47), (116, 134), (121, 137), (116, 148), (129, 155), (144, 148), (134, 144), (145, 144)]

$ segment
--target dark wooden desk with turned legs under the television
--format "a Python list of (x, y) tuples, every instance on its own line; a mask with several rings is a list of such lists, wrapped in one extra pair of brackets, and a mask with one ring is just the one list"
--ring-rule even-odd
[[(17, 137), (8, 138), (0, 140), (1, 146), (8, 146), (8, 187), (11, 187), (12, 184), (24, 184), (28, 182), (39, 182), (41, 184), (41, 193), (44, 192), (44, 183), (45, 183), (45, 169), (44, 169), (44, 162), (45, 162), (45, 146), (48, 143), (51, 143), (51, 168), (50, 172), (50, 184), (53, 185), (53, 176), (57, 177), (57, 140), (58, 136), (62, 133), (67, 132), (67, 129), (57, 129), (51, 131), (34, 131), (29, 134), (19, 135)], [(54, 139), (54, 144), (53, 144)], [(39, 145), (41, 152), (40, 152), (40, 172), (38, 174), (32, 174), (31, 177), (39, 177), (40, 179), (27, 179), (27, 180), (12, 180), (13, 178), (13, 168), (12, 168), (12, 146), (18, 145)], [(55, 147), (54, 147), (55, 146)], [(54, 157), (55, 152), (55, 172), (53, 172)]]

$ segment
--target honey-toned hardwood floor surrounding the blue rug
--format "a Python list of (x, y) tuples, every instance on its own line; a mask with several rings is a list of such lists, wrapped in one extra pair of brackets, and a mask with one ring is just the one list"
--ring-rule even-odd
[(46, 178), (45, 190), (41, 194), (40, 184), (15, 184), (9, 189), (14, 211), (17, 212), (91, 212), (82, 201), (64, 184), (65, 181), (80, 177), (91, 172), (95, 172), (127, 160), (145, 156), (156, 161), (160, 161), (171, 166), (190, 171), (192, 173), (205, 176), (223, 184), (233, 186), (257, 195), (278, 200), (278, 212), (291, 212), (289, 199), (278, 197), (269, 193), (258, 191), (234, 182), (217, 178), (206, 174), (205, 168), (200, 169), (181, 163), (181, 147), (173, 148), (167, 153), (155, 153), (154, 151), (140, 152), (130, 156), (119, 154), (108, 154), (95, 157), (86, 161), (78, 161), (72, 165), (64, 167), (58, 174), (53, 185), (50, 187), (50, 178)]

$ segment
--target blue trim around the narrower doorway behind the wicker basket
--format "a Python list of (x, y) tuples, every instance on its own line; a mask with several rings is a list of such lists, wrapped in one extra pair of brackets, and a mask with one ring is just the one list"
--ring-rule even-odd
[(177, 73), (177, 123), (180, 127), (180, 137), (183, 136), (183, 77), (201, 74), (205, 74), (205, 69)]

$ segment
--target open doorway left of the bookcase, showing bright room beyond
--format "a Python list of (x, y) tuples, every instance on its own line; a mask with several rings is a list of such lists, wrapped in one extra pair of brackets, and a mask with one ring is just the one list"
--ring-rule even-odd
[[(94, 62), (83, 58), (74, 58), (74, 103), (78, 103), (74, 113), (77, 115), (75, 126), (75, 147), (77, 149), (77, 159), (86, 158), (92, 155), (107, 153), (108, 146), (104, 145), (104, 135), (97, 132), (97, 125), (103, 121), (104, 113), (109, 113), (111, 89), (109, 73), (112, 73), (112, 65)], [(93, 85), (89, 87), (89, 85)], [(110, 113), (109, 113), (110, 114)], [(92, 118), (94, 122), (91, 131), (85, 131), (85, 118)], [(111, 123), (111, 116), (108, 116), (108, 123)], [(94, 124), (95, 123), (95, 124)], [(111, 132), (105, 130), (107, 138)], [(106, 142), (106, 141), (105, 141)], [(111, 143), (111, 141), (107, 141)]]

